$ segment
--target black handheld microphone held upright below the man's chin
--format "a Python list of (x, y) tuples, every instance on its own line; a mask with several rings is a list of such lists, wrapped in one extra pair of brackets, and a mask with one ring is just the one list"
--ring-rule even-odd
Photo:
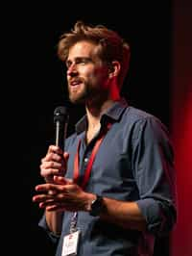
[(68, 110), (64, 106), (59, 106), (54, 111), (54, 124), (56, 128), (56, 145), (60, 146), (64, 152), (64, 141), (66, 139), (68, 125)]

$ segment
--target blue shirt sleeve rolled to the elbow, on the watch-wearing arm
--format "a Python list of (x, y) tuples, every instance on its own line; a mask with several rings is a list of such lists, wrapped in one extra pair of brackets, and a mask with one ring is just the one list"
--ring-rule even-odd
[(138, 121), (132, 145), (138, 207), (149, 232), (166, 234), (177, 219), (176, 170), (168, 131), (156, 117), (147, 117)]

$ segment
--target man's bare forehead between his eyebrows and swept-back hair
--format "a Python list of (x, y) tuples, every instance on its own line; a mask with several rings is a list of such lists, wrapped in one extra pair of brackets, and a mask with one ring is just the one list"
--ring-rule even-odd
[(96, 51), (96, 45), (90, 41), (79, 41), (70, 47), (68, 59), (77, 56), (91, 56)]

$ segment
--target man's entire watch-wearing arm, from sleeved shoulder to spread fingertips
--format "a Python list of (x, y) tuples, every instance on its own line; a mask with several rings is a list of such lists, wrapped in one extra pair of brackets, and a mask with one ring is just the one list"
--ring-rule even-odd
[[(100, 218), (124, 228), (163, 233), (176, 221), (172, 150), (166, 133), (154, 119), (142, 120), (137, 128), (132, 142), (132, 172), (140, 198), (123, 202), (105, 197)], [(62, 177), (56, 177), (54, 184), (39, 185), (37, 191), (45, 192), (36, 201), (50, 212), (89, 212), (95, 199), (95, 194), (84, 192), (73, 182), (67, 184)], [(49, 191), (56, 194), (47, 194)]]

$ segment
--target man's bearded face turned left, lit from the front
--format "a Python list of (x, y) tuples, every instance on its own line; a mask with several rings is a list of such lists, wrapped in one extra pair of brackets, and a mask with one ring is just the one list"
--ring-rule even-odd
[(73, 103), (86, 103), (108, 94), (108, 66), (102, 63), (96, 45), (80, 41), (69, 49), (67, 82)]

